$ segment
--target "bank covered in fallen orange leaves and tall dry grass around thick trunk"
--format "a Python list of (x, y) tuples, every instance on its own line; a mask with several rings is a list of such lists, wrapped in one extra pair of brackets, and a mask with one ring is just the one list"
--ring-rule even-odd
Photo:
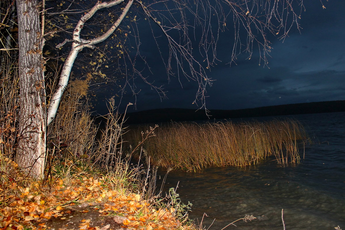
[(122, 154), (118, 114), (108, 114), (96, 140), (97, 128), (73, 87), (49, 128), (45, 179), (27, 176), (13, 161), (18, 78), (7, 63), (0, 74), (0, 230), (190, 228), (173, 206), (150, 196), (147, 169)]

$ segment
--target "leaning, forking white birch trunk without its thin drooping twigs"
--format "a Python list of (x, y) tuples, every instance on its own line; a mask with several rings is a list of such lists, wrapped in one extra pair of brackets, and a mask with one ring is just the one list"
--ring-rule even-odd
[[(107, 30), (105, 33), (103, 33), (101, 36), (94, 38), (94, 39), (89, 39), (85, 40), (80, 38), (80, 32), (82, 30), (82, 27), (84, 26), (85, 22), (89, 20), (99, 9), (102, 8), (108, 8), (115, 6), (124, 0), (114, 0), (114, 1), (109, 1), (109, 2), (100, 2), (93, 6), (91, 10), (83, 15), (80, 20), (78, 21), (78, 24), (73, 31), (73, 42), (72, 42), (72, 49), (65, 61), (65, 64), (62, 67), (62, 72), (60, 74), (60, 80), (59, 84), (57, 86), (57, 89), (55, 93), (53, 94), (52, 98), (50, 99), (49, 102), (49, 107), (48, 107), (48, 112), (47, 112), (47, 125), (49, 125), (53, 119), (56, 116), (57, 110), (59, 108), (60, 100), (62, 97), (63, 92), (65, 91), (67, 87), (67, 83), (70, 77), (71, 69), (73, 66), (74, 61), (76, 60), (79, 51), (81, 51), (83, 48), (88, 47), (88, 48), (94, 48), (93, 45), (97, 44), (99, 42), (104, 41), (107, 39), (119, 26), (119, 24), (122, 22), (122, 20), (125, 18), (126, 14), (128, 13), (129, 8), (132, 6), (132, 3), (134, 0), (129, 0), (126, 7), (122, 10), (122, 13), (120, 17), (116, 20), (116, 22), (112, 25), (112, 27)], [(61, 43), (57, 47), (61, 47), (65, 42)]]

